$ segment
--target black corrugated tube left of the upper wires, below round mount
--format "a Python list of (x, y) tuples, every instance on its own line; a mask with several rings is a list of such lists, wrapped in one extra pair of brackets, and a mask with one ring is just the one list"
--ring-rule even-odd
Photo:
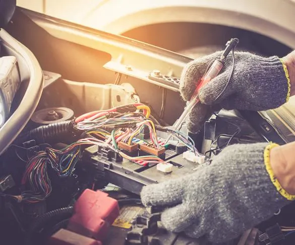
[(38, 144), (47, 143), (48, 140), (52, 140), (55, 137), (61, 137), (70, 133), (72, 130), (73, 121), (63, 121), (58, 123), (51, 123), (48, 125), (42, 125), (34, 128), (23, 135), (20, 135), (16, 143), (23, 143), (24, 141), (34, 139)]

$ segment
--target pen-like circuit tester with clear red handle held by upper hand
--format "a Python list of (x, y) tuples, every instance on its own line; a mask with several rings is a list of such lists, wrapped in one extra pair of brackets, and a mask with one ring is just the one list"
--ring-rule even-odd
[[(239, 43), (238, 38), (231, 38), (229, 41), (226, 42), (226, 44), (225, 44), (226, 47), (225, 47), (224, 51), (222, 52), (220, 58), (214, 60), (212, 62), (211, 66), (209, 64), (210, 68), (208, 69), (207, 72), (205, 72), (205, 74), (201, 78), (201, 81), (197, 85), (196, 90), (195, 90), (190, 102), (188, 103), (187, 107), (185, 108), (184, 112), (182, 113), (182, 115), (180, 116), (178, 121), (175, 123), (173, 130), (178, 130), (180, 128), (180, 126), (183, 124), (183, 122), (185, 121), (185, 119), (188, 116), (188, 114), (190, 113), (190, 111), (200, 101), (199, 96), (198, 96), (200, 89), (203, 88), (203, 86), (208, 84), (209, 81), (211, 81), (214, 77), (216, 77), (218, 75), (218, 73), (220, 72), (220, 70), (222, 69), (222, 67), (224, 65), (224, 63), (223, 63), (224, 59), (227, 57), (229, 52), (235, 46), (237, 46), (238, 43)], [(168, 138), (166, 139), (164, 145), (166, 145), (169, 142), (171, 137), (172, 137), (172, 135), (170, 134), (168, 136)]]

